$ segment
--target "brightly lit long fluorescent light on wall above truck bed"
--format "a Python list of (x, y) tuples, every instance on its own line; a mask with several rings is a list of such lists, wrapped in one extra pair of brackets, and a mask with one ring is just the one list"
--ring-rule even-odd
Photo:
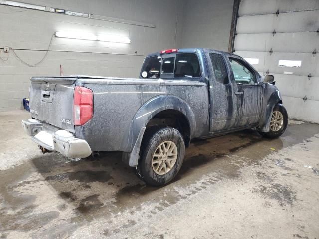
[(108, 41), (117, 43), (131, 43), (131, 40), (126, 36), (116, 36), (116, 35), (101, 35), (96, 36), (91, 33), (85, 32), (70, 32), (70, 31), (57, 31), (55, 32), (56, 37), (72, 38), (80, 40), (91, 40), (91, 41)]

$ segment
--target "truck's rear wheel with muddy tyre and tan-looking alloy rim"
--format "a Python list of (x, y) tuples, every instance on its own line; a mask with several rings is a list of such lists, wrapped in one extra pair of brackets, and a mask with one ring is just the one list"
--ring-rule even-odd
[(149, 185), (164, 185), (180, 170), (185, 156), (185, 143), (175, 128), (155, 127), (148, 130), (143, 139), (138, 173)]

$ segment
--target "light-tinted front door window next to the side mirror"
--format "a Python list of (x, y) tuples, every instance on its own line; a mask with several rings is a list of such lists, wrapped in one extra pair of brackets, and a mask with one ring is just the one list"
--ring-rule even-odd
[(230, 58), (229, 61), (237, 84), (254, 85), (256, 83), (255, 73), (241, 63), (240, 60)]

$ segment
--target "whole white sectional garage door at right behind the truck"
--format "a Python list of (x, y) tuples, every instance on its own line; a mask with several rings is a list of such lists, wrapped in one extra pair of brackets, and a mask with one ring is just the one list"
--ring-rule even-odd
[(241, 0), (238, 15), (234, 53), (275, 76), (290, 118), (319, 123), (319, 0)]

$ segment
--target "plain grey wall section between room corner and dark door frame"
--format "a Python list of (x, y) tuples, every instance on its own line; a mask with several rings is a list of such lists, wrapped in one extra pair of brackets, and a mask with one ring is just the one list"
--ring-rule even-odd
[(182, 47), (228, 51), (232, 12), (233, 0), (184, 1)]

